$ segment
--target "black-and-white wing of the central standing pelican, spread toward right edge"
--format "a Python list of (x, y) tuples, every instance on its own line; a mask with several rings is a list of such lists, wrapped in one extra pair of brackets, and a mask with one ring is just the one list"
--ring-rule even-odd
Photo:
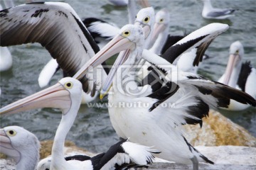
[(208, 115), (210, 107), (228, 108), (231, 99), (256, 106), (255, 98), (249, 94), (197, 74), (172, 72), (164, 79), (169, 80), (168, 83), (147, 96), (156, 100), (149, 111), (156, 109), (154, 111), (156, 113), (165, 106), (165, 109), (161, 109), (161, 114), (166, 114), (165, 118), (169, 118), (176, 125), (185, 123), (202, 125), (202, 118)]

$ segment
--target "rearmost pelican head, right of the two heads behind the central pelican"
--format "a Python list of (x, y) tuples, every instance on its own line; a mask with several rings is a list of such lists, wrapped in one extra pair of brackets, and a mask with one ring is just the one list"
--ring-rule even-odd
[(168, 31), (169, 22), (169, 13), (166, 8), (156, 13), (156, 21), (154, 23), (154, 30), (150, 40), (151, 43), (154, 43), (156, 41), (156, 38), (158, 38), (158, 35), (160, 33), (163, 33), (164, 30)]

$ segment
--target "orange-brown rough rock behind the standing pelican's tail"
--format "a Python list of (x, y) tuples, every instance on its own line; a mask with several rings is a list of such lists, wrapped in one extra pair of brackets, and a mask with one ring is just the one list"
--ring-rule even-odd
[(208, 118), (203, 118), (203, 126), (184, 125), (184, 136), (193, 146), (234, 145), (256, 147), (256, 138), (245, 128), (233, 123), (217, 111), (210, 111)]

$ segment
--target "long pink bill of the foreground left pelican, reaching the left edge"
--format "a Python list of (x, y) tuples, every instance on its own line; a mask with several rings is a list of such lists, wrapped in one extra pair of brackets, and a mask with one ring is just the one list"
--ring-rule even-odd
[(70, 93), (63, 85), (57, 83), (48, 89), (11, 103), (0, 109), (0, 115), (9, 115), (36, 108), (60, 108), (63, 114), (71, 106)]

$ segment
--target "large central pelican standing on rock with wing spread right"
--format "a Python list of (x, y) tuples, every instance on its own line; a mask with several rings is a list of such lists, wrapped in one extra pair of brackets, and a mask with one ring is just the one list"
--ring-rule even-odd
[[(218, 26), (219, 23), (214, 25)], [(220, 24), (220, 26), (228, 28), (225, 24)], [(183, 44), (204, 47), (203, 42), (207, 44), (208, 41), (206, 38), (202, 42), (202, 37), (212, 38), (210, 29), (191, 33), (183, 40)], [(185, 40), (188, 42), (186, 43)], [(194, 42), (196, 40), (197, 43)], [(112, 67), (112, 71), (115, 71), (119, 64), (124, 63), (123, 72), (117, 72), (117, 77), (115, 77), (111, 71), (108, 75), (110, 79), (107, 79), (106, 86), (102, 88), (103, 91), (107, 91), (115, 77), (110, 89), (112, 94), (109, 94), (108, 99), (113, 104), (113, 107), (109, 108), (110, 120), (119, 137), (129, 137), (133, 142), (154, 145), (161, 152), (157, 157), (162, 159), (183, 164), (192, 161), (194, 169), (197, 169), (198, 161), (213, 164), (186, 141), (180, 126), (186, 123), (202, 124), (201, 118), (208, 115), (209, 106), (228, 107), (230, 98), (241, 103), (249, 103), (252, 106), (256, 106), (255, 99), (242, 91), (196, 74), (184, 72), (174, 72), (173, 74), (167, 72), (164, 77), (168, 80), (167, 83), (155, 92), (152, 92), (148, 85), (142, 88), (138, 87), (134, 82), (136, 75), (130, 71), (133, 71), (133, 65), (140, 60), (140, 57), (144, 57), (145, 60), (160, 68), (161, 64), (166, 63), (164, 59), (148, 50), (142, 52), (143, 41), (142, 28), (133, 25), (124, 26), (119, 35), (87, 62), (74, 78), (80, 79), (87, 72), (87, 67), (94, 65), (102, 58), (106, 60), (107, 57), (119, 51), (129, 49), (129, 52), (123, 56), (124, 58), (117, 58)], [(176, 50), (173, 47), (173, 52), (177, 51), (181, 45), (175, 47)], [(130, 54), (129, 57), (127, 54)], [(177, 71), (174, 66), (171, 68), (171, 71)], [(165, 68), (161, 69), (164, 72)], [(127, 86), (124, 86), (125, 84)], [(142, 89), (145, 89), (143, 94), (141, 93)], [(162, 103), (165, 104), (162, 105)], [(134, 107), (131, 104), (134, 104)]]

